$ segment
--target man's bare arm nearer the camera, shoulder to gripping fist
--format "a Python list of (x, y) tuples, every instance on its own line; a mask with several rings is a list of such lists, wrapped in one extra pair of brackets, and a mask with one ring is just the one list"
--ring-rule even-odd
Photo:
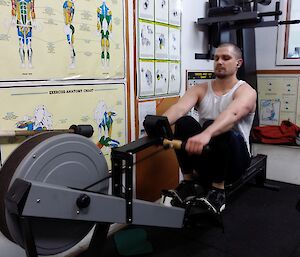
[(248, 84), (237, 89), (234, 100), (202, 133), (188, 139), (186, 150), (200, 154), (212, 137), (220, 135), (234, 127), (235, 123), (256, 107), (256, 91)]

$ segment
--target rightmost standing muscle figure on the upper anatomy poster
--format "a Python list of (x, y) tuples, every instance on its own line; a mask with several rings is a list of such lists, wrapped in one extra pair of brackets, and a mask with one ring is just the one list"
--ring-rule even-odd
[(101, 38), (101, 62), (109, 65), (110, 61), (110, 36), (112, 33), (112, 12), (107, 7), (106, 1), (97, 9), (97, 31)]

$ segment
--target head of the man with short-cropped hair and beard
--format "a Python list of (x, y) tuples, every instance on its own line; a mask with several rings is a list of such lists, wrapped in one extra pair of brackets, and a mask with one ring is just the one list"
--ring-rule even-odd
[(214, 72), (217, 78), (224, 79), (235, 76), (242, 63), (242, 52), (235, 44), (222, 43), (216, 48)]

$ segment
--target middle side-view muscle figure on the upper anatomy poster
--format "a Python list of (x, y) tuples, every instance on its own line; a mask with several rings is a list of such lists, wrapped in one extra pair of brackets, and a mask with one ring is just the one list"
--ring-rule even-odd
[(65, 19), (65, 33), (67, 36), (67, 41), (70, 46), (70, 53), (71, 53), (70, 68), (74, 68), (75, 67), (75, 50), (74, 50), (75, 28), (72, 25), (74, 12), (75, 12), (74, 0), (66, 0), (63, 4), (63, 11), (64, 11), (64, 19)]

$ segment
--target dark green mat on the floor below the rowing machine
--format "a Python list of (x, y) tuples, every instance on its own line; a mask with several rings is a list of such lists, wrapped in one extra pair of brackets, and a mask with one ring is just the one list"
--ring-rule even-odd
[(153, 252), (147, 232), (141, 228), (120, 230), (114, 234), (117, 251), (123, 256), (147, 254)]

